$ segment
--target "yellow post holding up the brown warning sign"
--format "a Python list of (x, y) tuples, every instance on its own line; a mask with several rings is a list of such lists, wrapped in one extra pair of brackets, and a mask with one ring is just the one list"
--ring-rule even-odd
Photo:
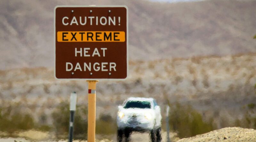
[(96, 122), (96, 83), (98, 80), (87, 80), (88, 82), (88, 142), (95, 142)]

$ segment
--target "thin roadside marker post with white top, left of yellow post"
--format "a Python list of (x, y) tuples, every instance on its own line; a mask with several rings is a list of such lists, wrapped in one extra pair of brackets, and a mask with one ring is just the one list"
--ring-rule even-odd
[(72, 142), (73, 139), (73, 130), (74, 130), (74, 121), (75, 121), (75, 111), (76, 111), (76, 92), (70, 94), (70, 118), (69, 118), (69, 133), (68, 133), (68, 142)]

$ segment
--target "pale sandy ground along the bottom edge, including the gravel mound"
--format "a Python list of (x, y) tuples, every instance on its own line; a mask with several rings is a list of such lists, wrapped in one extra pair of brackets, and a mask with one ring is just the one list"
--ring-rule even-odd
[[(32, 133), (32, 132), (30, 132)], [(33, 132), (35, 133), (35, 132)], [(180, 139), (176, 133), (169, 134), (172, 142), (256, 142), (256, 130), (244, 129), (239, 127), (228, 127), (220, 130), (211, 131), (205, 134), (196, 135), (191, 138)], [(166, 132), (162, 132), (162, 142), (166, 142)], [(0, 138), (0, 142), (67, 142), (68, 140), (36, 140), (26, 138)], [(131, 142), (149, 142), (150, 139), (147, 133), (133, 133)], [(87, 142), (75, 140), (74, 142)], [(96, 142), (115, 142), (113, 140), (101, 139)]]

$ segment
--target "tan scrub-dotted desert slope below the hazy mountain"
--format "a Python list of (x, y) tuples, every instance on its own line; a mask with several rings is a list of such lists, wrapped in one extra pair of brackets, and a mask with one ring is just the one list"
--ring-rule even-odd
[[(117, 106), (127, 97), (153, 97), (165, 109), (175, 102), (190, 104), (220, 119), (243, 117), (244, 106), (254, 103), (256, 55), (193, 57), (130, 62), (125, 81), (100, 81), (97, 85), (97, 116), (116, 117)], [(27, 112), (49, 114), (71, 92), (78, 94), (78, 104), (87, 104), (86, 81), (64, 81), (53, 77), (53, 68), (23, 68), (0, 71), (0, 104), (20, 103)]]

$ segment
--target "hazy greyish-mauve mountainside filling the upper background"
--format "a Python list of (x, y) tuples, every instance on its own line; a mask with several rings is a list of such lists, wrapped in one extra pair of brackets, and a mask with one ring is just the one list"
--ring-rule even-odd
[(0, 1), (0, 69), (53, 67), (56, 5), (127, 5), (130, 60), (256, 52), (256, 1)]

